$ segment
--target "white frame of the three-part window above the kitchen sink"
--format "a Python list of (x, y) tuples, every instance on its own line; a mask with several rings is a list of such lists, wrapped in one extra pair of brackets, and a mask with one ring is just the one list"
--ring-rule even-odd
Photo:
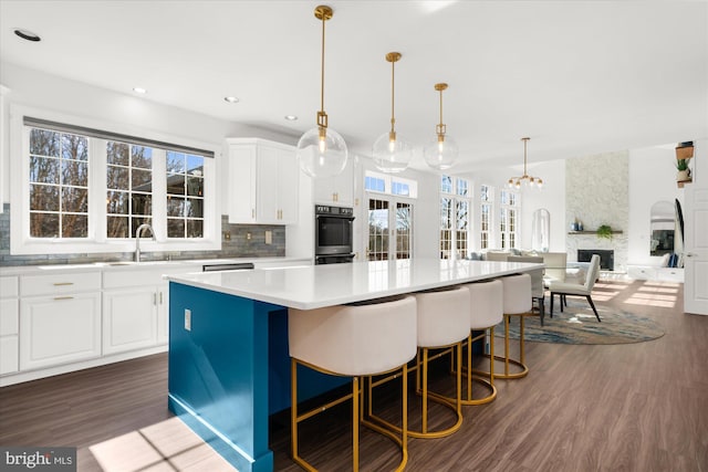
[[(156, 251), (209, 251), (221, 249), (220, 199), (217, 198), (217, 158), (221, 148), (211, 144), (195, 141), (176, 136), (165, 135), (147, 129), (136, 129), (95, 119), (70, 116), (50, 112), (11, 105), (10, 107), (10, 253), (11, 254), (71, 254), (96, 252), (133, 252), (135, 239), (106, 238), (106, 148), (105, 140), (90, 140), (88, 165), (88, 238), (82, 239), (46, 239), (30, 237), (30, 162), (29, 162), (29, 127), (24, 126), (24, 116), (46, 119), (55, 123), (81, 126), (94, 129), (107, 129), (112, 133), (134, 135), (145, 139), (163, 143), (175, 143), (186, 147), (212, 151), (215, 158), (205, 158), (205, 204), (204, 237), (199, 239), (167, 238), (166, 203), (166, 160), (163, 149), (154, 148), (153, 154), (153, 229), (155, 241), (145, 238), (140, 249), (146, 252)], [(158, 177), (159, 176), (159, 177)]]

